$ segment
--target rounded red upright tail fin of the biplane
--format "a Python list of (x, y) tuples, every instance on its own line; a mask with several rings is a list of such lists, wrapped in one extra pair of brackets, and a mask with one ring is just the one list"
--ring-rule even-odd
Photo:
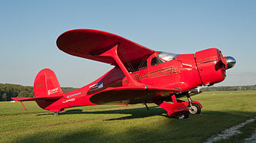
[(35, 97), (60, 96), (63, 93), (52, 70), (43, 69), (38, 73), (35, 77), (34, 93)]

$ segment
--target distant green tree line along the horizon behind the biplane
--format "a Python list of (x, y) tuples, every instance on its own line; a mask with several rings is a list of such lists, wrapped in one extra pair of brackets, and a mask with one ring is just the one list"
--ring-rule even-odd
[[(62, 87), (64, 93), (68, 93), (76, 88)], [(238, 90), (256, 90), (254, 86), (211, 86), (203, 87), (204, 91), (238, 91)], [(17, 84), (0, 83), (0, 101), (11, 101), (11, 97), (35, 97), (33, 86), (22, 86)]]

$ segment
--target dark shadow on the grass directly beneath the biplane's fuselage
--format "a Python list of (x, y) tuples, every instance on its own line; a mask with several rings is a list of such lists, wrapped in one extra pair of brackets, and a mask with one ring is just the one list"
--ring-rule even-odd
[[(60, 115), (70, 115), (70, 114), (125, 114), (128, 116), (124, 116), (121, 118), (114, 119), (105, 119), (105, 121), (111, 120), (124, 120), (124, 119), (140, 119), (145, 117), (150, 117), (154, 115), (161, 115), (167, 118), (170, 118), (167, 112), (164, 109), (155, 107), (146, 108), (137, 108), (137, 109), (116, 109), (116, 110), (107, 110), (107, 111), (85, 111), (83, 109), (70, 109), (65, 112), (61, 112)], [(38, 114), (38, 115), (51, 115), (51, 114)]]

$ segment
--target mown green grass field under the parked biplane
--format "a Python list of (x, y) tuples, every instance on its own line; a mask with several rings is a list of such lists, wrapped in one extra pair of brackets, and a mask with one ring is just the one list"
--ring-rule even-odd
[[(164, 109), (149, 104), (83, 106), (54, 116), (35, 102), (0, 102), (2, 142), (203, 142), (240, 122), (256, 116), (256, 91), (205, 92), (192, 99), (204, 106), (201, 115), (189, 119), (167, 117)], [(228, 140), (243, 141), (256, 122)]]

